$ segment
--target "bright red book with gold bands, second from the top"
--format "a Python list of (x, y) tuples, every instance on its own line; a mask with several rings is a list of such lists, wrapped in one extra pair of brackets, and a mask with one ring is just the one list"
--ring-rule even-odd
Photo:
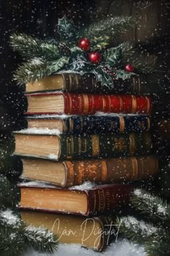
[(151, 98), (138, 95), (30, 93), (25, 114), (151, 114)]

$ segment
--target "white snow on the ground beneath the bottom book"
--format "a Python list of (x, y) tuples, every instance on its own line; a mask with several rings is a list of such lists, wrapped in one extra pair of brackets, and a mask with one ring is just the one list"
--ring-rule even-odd
[(147, 256), (142, 247), (128, 242), (126, 239), (111, 244), (104, 252), (94, 252), (78, 244), (59, 244), (53, 255), (29, 251), (24, 256)]

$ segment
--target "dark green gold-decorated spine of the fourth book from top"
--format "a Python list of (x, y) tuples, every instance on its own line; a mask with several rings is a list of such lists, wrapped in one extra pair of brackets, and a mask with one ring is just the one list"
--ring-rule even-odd
[(83, 137), (60, 135), (61, 150), (59, 158), (109, 158), (115, 155), (134, 155), (151, 150), (151, 136), (142, 134), (128, 135), (86, 135)]

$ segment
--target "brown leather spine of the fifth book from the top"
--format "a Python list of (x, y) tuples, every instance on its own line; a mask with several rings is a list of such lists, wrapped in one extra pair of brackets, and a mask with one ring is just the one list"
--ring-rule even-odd
[(63, 163), (67, 170), (64, 187), (80, 185), (86, 181), (96, 184), (134, 181), (158, 174), (158, 160), (153, 155)]

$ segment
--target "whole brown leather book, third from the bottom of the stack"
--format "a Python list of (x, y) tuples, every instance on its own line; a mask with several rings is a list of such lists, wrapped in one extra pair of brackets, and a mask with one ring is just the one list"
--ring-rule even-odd
[(95, 184), (128, 182), (149, 179), (158, 174), (158, 160), (154, 155), (63, 162), (22, 158), (21, 161), (20, 178), (58, 187), (71, 187), (88, 181)]

